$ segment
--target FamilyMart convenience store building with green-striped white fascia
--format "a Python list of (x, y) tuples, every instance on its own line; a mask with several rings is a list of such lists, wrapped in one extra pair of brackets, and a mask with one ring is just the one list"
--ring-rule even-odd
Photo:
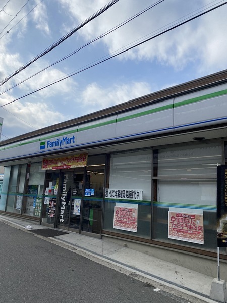
[(225, 70), (0, 142), (0, 212), (215, 277), (226, 142)]

